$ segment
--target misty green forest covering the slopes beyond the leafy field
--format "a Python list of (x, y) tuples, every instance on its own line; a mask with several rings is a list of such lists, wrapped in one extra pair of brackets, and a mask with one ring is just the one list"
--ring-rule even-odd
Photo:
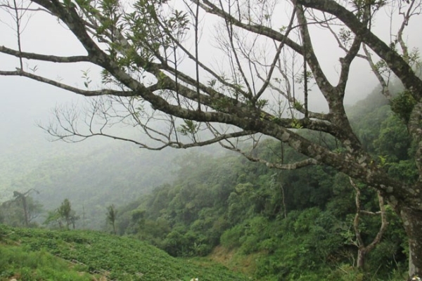
[[(416, 181), (414, 147), (403, 117), (390, 110), (379, 89), (347, 110), (363, 145), (378, 159), (376, 164), (399, 181)], [(326, 134), (306, 130), (302, 133), (330, 150), (342, 149)], [(119, 152), (122, 155), (122, 148)], [(110, 159), (115, 152), (98, 153), (101, 159)], [(153, 157), (155, 152), (151, 153), (141, 155)], [(253, 148), (253, 153), (271, 162), (303, 158), (269, 138)], [(60, 168), (60, 157), (46, 162), (34, 170), (37, 174), (44, 171), (44, 178), (25, 185), (28, 190), (37, 190), (37, 182), (44, 181), (44, 190), (39, 194), (23, 194), (26, 190), (21, 190), (3, 202), (0, 222), (15, 227), (102, 230), (147, 242), (180, 259), (222, 263), (253, 280), (405, 279), (408, 246), (400, 218), (380, 201), (375, 190), (351, 181), (329, 166), (271, 169), (238, 153), (212, 154), (206, 150), (174, 155), (165, 167), (154, 166), (154, 158), (141, 158), (133, 166), (139, 168), (143, 163), (147, 174), (139, 169), (126, 171), (117, 181), (109, 175), (110, 180), (103, 179), (89, 187), (91, 193), (84, 193), (90, 194), (84, 198), (84, 221), (80, 206), (73, 207), (80, 205), (83, 196), (71, 200), (66, 197), (80, 196), (78, 188), (88, 188), (89, 182), (69, 181), (72, 186), (66, 193), (60, 186), (63, 178), (80, 172), (60, 174), (60, 169), (69, 171)], [(155, 160), (160, 163), (158, 158)], [(76, 171), (79, 165), (86, 168), (90, 162), (110, 162), (95, 157), (79, 161), (81, 164), (71, 162)], [(53, 166), (56, 169), (51, 169)], [(173, 178), (168, 178), (167, 183), (156, 182), (169, 166), (177, 167)], [(25, 183), (31, 183), (34, 173), (23, 178)], [(148, 178), (150, 188), (136, 189), (146, 186), (143, 181)], [(114, 186), (117, 182), (119, 188)], [(125, 189), (123, 183), (134, 187)], [(97, 193), (107, 200), (94, 196)], [(29, 225), (25, 223), (23, 197), (29, 215), (39, 215)], [(138, 199), (130, 202), (135, 197)], [(362, 251), (364, 256), (358, 257)]]

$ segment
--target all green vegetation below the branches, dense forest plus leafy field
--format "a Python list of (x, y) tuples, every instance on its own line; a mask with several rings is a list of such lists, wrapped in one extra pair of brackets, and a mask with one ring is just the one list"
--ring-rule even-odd
[[(348, 111), (362, 145), (373, 155), (372, 164), (399, 181), (416, 181), (415, 148), (404, 120), (376, 93), (368, 100)], [(300, 133), (332, 151), (343, 152), (341, 145), (324, 134)], [(276, 163), (304, 159), (271, 139), (263, 140), (252, 153)], [(246, 280), (241, 274), (253, 280), (292, 281), (406, 278), (407, 237), (399, 217), (388, 206), (387, 230), (362, 263), (358, 262), (359, 245), (371, 244), (381, 228), (377, 193), (362, 183), (352, 184), (348, 176), (329, 166), (276, 170), (229, 152), (214, 157), (190, 152), (172, 164), (177, 167), (173, 183), (158, 185), (129, 204), (110, 200), (98, 204), (101, 213), (98, 211), (96, 223), (120, 236), (1, 226), (2, 253), (8, 256), (13, 250), (46, 256), (43, 259), (52, 259), (52, 254), (84, 264), (75, 269), (64, 263), (63, 270), (70, 272), (63, 276), (80, 270), (101, 273), (111, 280)], [(117, 193), (122, 195), (121, 190)], [(357, 224), (356, 193), (362, 209)], [(110, 191), (106, 195), (117, 196)], [(126, 202), (129, 197), (133, 198), (132, 193)], [(97, 199), (90, 200), (87, 202)], [(73, 228), (72, 218), (81, 212), (73, 211), (73, 200), (62, 198), (60, 202), (50, 204), (46, 224), (63, 230)], [(4, 204), (0, 220), (8, 224), (20, 221), (15, 226), (24, 226), (21, 203), (12, 200)], [(27, 209), (37, 206), (30, 196), (27, 203)], [(354, 227), (359, 229), (361, 241)], [(16, 244), (20, 247), (15, 249)], [(6, 278), (29, 274), (44, 276), (39, 280), (66, 280), (48, 277), (49, 267), (42, 263), (23, 269), (14, 264), (11, 261), (2, 269)], [(89, 275), (80, 278), (84, 277)]]

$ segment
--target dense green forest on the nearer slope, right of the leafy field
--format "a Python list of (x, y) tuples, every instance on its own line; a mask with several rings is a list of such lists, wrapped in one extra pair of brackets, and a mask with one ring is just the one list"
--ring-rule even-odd
[[(373, 164), (397, 179), (414, 181), (405, 125), (383, 98), (370, 98), (368, 106), (350, 109), (357, 135), (378, 159)], [(342, 149), (333, 138), (302, 133), (331, 150)], [(253, 153), (271, 162), (302, 159), (271, 140)], [(218, 247), (231, 253), (224, 264), (257, 280), (404, 280), (407, 239), (389, 207), (386, 232), (358, 268), (357, 246), (370, 244), (381, 226), (376, 192), (362, 183), (357, 185), (364, 211), (357, 225), (359, 242), (355, 190), (347, 176), (331, 167), (279, 171), (232, 154), (188, 155), (181, 163), (173, 185), (161, 185), (120, 207), (118, 233), (151, 242), (172, 256), (208, 256), (221, 262)]]

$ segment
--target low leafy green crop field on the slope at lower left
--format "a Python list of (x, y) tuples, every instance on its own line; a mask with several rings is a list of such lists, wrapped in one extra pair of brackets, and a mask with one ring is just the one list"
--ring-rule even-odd
[[(191, 280), (196, 277), (201, 281), (250, 280), (217, 263), (204, 264), (189, 259), (176, 259), (146, 242), (94, 231), (54, 231), (0, 225), (0, 242), (2, 253), (16, 249), (23, 253), (21, 257), (16, 256), (15, 261), (0, 261), (2, 265), (8, 265), (0, 267), (0, 275), (4, 277), (21, 274), (18, 267), (22, 268), (23, 255), (32, 253), (44, 258), (28, 257), (28, 262), (43, 259), (49, 261), (53, 259), (53, 255), (78, 263), (82, 265), (82, 270), (96, 273), (97, 276), (103, 275), (108, 280)], [(27, 275), (32, 275), (32, 279), (25, 280), (89, 280), (82, 273), (79, 279), (65, 275), (63, 279), (60, 276), (37, 279), (37, 265), (23, 267), (27, 268)], [(76, 273), (78, 270), (80, 268), (75, 268)]]

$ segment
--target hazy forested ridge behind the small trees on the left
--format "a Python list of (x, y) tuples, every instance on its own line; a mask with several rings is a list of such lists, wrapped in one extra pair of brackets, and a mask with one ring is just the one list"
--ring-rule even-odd
[[(106, 224), (105, 218), (98, 218), (103, 217), (109, 204), (124, 204), (156, 185), (172, 181), (172, 159), (180, 154), (177, 150), (153, 153), (117, 142), (79, 148), (82, 151), (56, 153), (40, 149), (49, 156), (36, 158), (34, 163), (26, 162), (37, 155), (37, 151), (32, 153), (34, 147), (4, 155), (1, 164), (8, 169), (2, 170), (1, 201), (13, 200), (14, 191), (32, 190), (30, 197), (43, 205), (35, 219), (42, 223), (46, 211), (56, 209), (68, 198), (81, 216), (79, 227), (98, 230)], [(20, 226), (18, 219), (14, 220), (13, 225)]]

